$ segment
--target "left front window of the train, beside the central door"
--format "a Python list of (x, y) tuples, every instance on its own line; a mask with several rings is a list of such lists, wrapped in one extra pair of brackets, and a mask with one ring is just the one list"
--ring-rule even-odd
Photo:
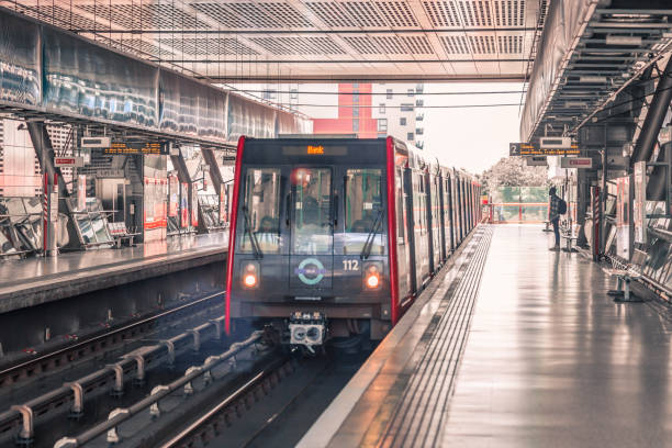
[(280, 251), (280, 169), (248, 168), (245, 175), (238, 250)]

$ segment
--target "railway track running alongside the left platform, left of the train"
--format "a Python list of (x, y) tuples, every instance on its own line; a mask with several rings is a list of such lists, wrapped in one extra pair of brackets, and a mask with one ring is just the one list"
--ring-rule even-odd
[(130, 324), (112, 327), (101, 334), (83, 338), (55, 350), (44, 354), (35, 352), (30, 359), (22, 360), (0, 370), (0, 390), (51, 371), (63, 369), (72, 362), (82, 361), (99, 355), (101, 351), (114, 349), (130, 339), (156, 331), (157, 323), (159, 322), (165, 323), (166, 320), (173, 321), (182, 318), (183, 316), (193, 315), (200, 310), (216, 304), (223, 296), (224, 292), (211, 293), (192, 300), (183, 305), (154, 313)]

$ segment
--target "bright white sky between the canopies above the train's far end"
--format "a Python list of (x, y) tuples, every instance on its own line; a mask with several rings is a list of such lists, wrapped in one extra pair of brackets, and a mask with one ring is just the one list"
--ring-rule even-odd
[[(426, 83), (425, 92), (517, 91), (522, 83)], [(508, 144), (519, 142), (520, 93), (424, 96), (425, 105), (501, 104), (514, 107), (473, 109), (425, 109), (425, 152), (441, 164), (480, 173), (502, 157)]]

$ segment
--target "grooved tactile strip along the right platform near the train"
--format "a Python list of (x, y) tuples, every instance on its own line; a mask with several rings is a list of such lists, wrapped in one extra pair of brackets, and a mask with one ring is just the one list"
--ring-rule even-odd
[[(416, 355), (406, 365), (388, 395), (390, 403), (385, 404), (390, 406), (382, 407), (387, 408), (388, 413), (383, 411), (377, 416), (378, 423), (387, 427), (385, 430), (378, 435), (367, 434), (363, 445), (436, 446), (459, 360), (467, 343), (492, 228), (482, 226), (477, 229), (474, 236), (478, 237), (478, 243), (472, 249), (471, 259), (461, 267), (458, 279), (446, 292), (432, 323), (423, 334), (415, 350)], [(390, 408), (393, 408), (391, 415)], [(385, 425), (381, 419), (388, 419), (389, 423)], [(374, 439), (377, 440), (373, 441)]]

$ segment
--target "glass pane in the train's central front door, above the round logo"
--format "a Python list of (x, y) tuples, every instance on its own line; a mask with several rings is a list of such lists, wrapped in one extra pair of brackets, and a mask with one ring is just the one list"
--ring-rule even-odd
[(292, 171), (293, 254), (332, 253), (332, 170), (296, 168)]

